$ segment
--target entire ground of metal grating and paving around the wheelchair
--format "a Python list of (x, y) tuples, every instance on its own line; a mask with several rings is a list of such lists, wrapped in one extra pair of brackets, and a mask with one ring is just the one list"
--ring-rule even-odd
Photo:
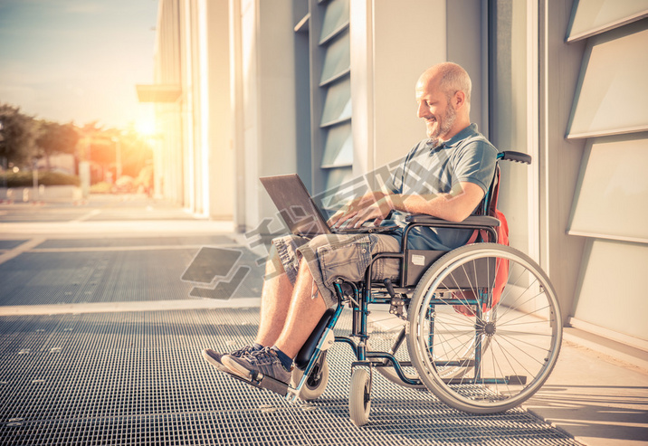
[[(358, 429), (345, 346), (315, 404), (215, 374), (200, 348), (249, 342), (258, 323), (262, 250), (246, 245), (232, 223), (137, 196), (0, 205), (0, 443), (648, 444), (648, 355), (572, 328), (529, 412), (466, 415), (381, 383)], [(227, 299), (181, 280), (204, 246), (244, 251)]]

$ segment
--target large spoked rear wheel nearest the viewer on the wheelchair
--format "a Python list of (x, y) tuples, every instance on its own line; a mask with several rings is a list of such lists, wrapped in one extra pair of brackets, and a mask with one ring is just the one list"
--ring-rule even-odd
[(529, 399), (551, 373), (562, 340), (547, 275), (497, 243), (462, 246), (436, 261), (415, 289), (409, 325), (407, 348), (425, 386), (468, 413), (502, 412)]

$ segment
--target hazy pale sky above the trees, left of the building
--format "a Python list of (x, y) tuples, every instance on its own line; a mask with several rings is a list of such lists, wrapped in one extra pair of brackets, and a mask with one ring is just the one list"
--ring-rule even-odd
[(146, 126), (157, 0), (0, 0), (0, 103), (38, 119)]

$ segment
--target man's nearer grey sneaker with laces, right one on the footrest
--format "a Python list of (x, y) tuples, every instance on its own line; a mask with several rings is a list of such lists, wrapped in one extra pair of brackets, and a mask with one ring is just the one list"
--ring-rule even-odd
[(291, 370), (286, 370), (277, 353), (267, 346), (246, 356), (225, 355), (223, 365), (233, 374), (247, 380), (252, 380), (256, 373), (261, 373), (284, 384), (291, 382)]

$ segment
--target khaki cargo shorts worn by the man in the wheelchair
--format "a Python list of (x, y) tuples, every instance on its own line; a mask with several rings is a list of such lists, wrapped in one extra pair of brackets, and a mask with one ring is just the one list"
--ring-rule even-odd
[[(274, 259), (271, 256), (271, 260), (277, 265), (275, 270), (278, 273), (285, 271), (294, 285), (300, 261), (304, 259), (327, 308), (331, 308), (338, 303), (333, 288), (335, 280), (363, 280), (371, 256), (378, 252), (399, 252), (400, 243), (397, 236), (374, 233), (322, 234), (312, 239), (286, 235), (272, 240), (276, 254)], [(281, 266), (277, 261), (281, 262)], [(399, 276), (399, 261), (376, 261), (371, 276), (372, 280), (396, 280)]]

